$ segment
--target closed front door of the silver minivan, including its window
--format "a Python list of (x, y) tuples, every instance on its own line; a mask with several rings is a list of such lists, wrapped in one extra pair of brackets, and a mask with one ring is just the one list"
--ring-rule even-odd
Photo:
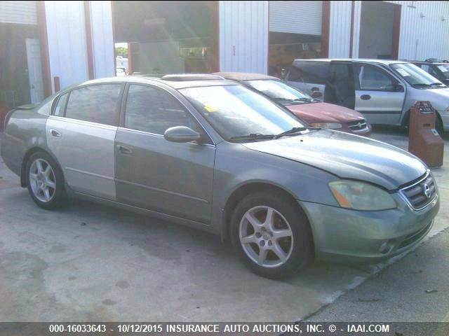
[(356, 111), (372, 124), (397, 125), (401, 118), (405, 85), (381, 66), (354, 63)]

